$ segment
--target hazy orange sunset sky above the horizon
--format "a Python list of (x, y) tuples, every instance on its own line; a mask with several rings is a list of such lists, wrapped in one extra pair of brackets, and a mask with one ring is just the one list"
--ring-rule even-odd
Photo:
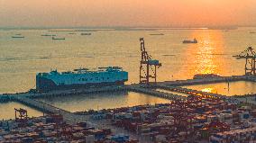
[(0, 26), (256, 24), (256, 0), (0, 0)]

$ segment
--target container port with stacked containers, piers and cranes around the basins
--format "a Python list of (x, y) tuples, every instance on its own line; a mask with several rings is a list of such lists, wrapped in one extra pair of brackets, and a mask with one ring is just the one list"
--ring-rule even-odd
[[(248, 94), (226, 96), (182, 87), (236, 81), (256, 82), (255, 52), (251, 48), (236, 56), (246, 59), (245, 76), (200, 76), (157, 82), (157, 68), (161, 64), (151, 59), (145, 50), (144, 40), (140, 41), (140, 84), (0, 95), (1, 102), (23, 103), (45, 113), (42, 117), (28, 118), (26, 110), (15, 109), (14, 120), (0, 121), (0, 142), (256, 142), (256, 106), (250, 101), (244, 103), (241, 98)], [(38, 100), (52, 96), (115, 91), (149, 94), (168, 99), (169, 103), (69, 112)]]

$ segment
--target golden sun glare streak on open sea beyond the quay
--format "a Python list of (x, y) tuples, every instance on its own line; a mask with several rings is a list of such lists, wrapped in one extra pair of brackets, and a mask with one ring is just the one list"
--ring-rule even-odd
[[(197, 44), (187, 46), (187, 56), (191, 64), (189, 67), (191, 75), (195, 74), (220, 74), (224, 67), (219, 59), (223, 53), (223, 35), (220, 31), (194, 31), (191, 38), (197, 38)], [(188, 55), (190, 54), (190, 55)], [(191, 54), (193, 54), (191, 56)]]

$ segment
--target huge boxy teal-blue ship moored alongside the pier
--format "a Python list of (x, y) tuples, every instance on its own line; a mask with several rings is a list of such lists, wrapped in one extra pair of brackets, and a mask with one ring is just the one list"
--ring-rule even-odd
[(50, 73), (36, 75), (36, 89), (47, 92), (59, 89), (123, 85), (126, 81), (128, 81), (128, 72), (123, 71), (122, 67), (99, 67), (96, 71), (79, 68), (61, 73), (53, 70)]

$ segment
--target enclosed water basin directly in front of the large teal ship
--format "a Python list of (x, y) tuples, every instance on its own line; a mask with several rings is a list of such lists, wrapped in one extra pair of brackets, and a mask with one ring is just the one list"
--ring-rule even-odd
[[(42, 102), (50, 103), (55, 107), (69, 112), (82, 112), (85, 110), (114, 109), (119, 107), (136, 106), (140, 104), (170, 103), (167, 99), (147, 94), (133, 92), (117, 92), (112, 94), (84, 94), (66, 97), (41, 98)], [(76, 103), (74, 105), (74, 103)]]

